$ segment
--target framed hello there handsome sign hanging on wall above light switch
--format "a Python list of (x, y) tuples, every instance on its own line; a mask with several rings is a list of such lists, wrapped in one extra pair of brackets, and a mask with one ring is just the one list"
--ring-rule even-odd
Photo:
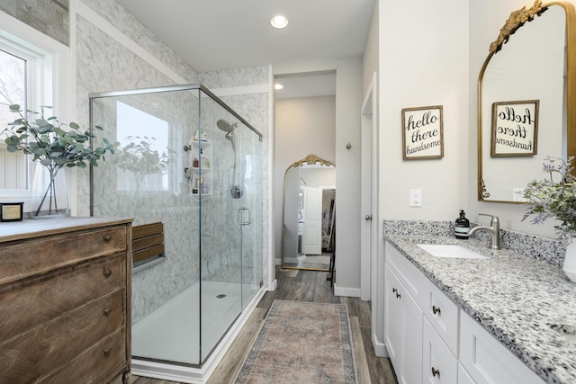
[(404, 160), (444, 156), (442, 105), (402, 109)]

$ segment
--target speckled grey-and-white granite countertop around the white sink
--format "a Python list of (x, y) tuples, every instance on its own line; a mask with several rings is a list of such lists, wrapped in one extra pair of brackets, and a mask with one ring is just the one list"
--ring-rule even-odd
[[(561, 268), (475, 239), (385, 239), (543, 380), (576, 382), (576, 283)], [(458, 244), (490, 258), (435, 257), (416, 246), (423, 243)]]

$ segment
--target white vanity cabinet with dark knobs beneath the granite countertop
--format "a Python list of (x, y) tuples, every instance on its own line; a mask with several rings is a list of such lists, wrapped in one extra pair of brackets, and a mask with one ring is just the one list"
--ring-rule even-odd
[(399, 382), (544, 383), (390, 243), (385, 250), (384, 340)]

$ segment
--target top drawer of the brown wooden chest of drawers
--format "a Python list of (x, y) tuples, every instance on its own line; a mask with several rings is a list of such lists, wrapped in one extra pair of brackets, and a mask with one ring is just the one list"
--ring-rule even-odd
[(126, 251), (126, 227), (0, 243), (0, 286), (78, 261)]

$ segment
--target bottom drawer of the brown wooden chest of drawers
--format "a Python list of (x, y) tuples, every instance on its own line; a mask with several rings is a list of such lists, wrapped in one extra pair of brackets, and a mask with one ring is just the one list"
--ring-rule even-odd
[(126, 359), (125, 337), (123, 328), (117, 330), (39, 382), (42, 384), (108, 382), (105, 378), (115, 377), (123, 371), (123, 361)]

